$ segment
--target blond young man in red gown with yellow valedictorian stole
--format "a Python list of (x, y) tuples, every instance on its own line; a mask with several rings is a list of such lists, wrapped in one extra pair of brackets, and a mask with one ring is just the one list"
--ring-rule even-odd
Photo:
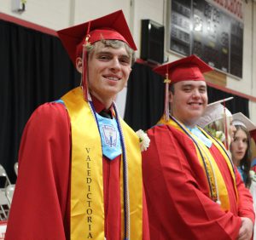
[(5, 239), (149, 239), (139, 139), (113, 102), (136, 50), (124, 14), (58, 34), (82, 86), (26, 124)]

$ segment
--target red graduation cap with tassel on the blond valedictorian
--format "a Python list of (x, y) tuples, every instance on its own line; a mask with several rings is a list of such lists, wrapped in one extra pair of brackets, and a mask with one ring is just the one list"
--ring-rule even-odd
[(86, 73), (87, 54), (84, 45), (93, 44), (102, 39), (120, 40), (127, 43), (131, 49), (137, 50), (122, 10), (77, 26), (68, 27), (57, 31), (57, 33), (74, 66), (76, 66), (77, 57), (83, 55), (82, 85), (84, 89), (84, 100), (86, 101), (88, 100), (89, 93)]

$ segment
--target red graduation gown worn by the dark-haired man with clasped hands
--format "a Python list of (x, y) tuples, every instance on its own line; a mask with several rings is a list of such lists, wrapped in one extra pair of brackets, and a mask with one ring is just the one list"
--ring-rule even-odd
[(151, 239), (236, 239), (241, 216), (254, 221), (253, 200), (236, 172), (236, 192), (230, 170), (215, 146), (218, 168), (224, 173), (230, 211), (209, 196), (206, 175), (189, 137), (171, 126), (148, 130), (150, 146), (143, 152), (143, 183)]

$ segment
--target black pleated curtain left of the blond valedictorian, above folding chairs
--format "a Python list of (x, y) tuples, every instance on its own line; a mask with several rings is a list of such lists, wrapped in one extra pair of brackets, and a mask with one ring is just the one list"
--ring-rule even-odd
[(20, 136), (37, 106), (79, 84), (58, 37), (0, 20), (0, 163), (15, 182)]

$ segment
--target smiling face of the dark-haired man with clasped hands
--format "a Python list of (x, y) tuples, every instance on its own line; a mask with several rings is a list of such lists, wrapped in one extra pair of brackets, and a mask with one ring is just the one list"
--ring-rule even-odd
[(170, 102), (172, 116), (183, 124), (194, 127), (207, 106), (205, 81), (182, 81), (174, 84)]

